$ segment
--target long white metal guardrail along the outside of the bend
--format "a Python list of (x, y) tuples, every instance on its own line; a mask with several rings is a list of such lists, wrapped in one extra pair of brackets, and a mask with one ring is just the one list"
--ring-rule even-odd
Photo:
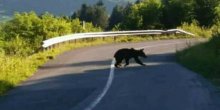
[(160, 34), (187, 34), (195, 36), (190, 32), (181, 29), (169, 29), (169, 30), (137, 30), (137, 31), (112, 31), (112, 32), (89, 32), (89, 33), (76, 33), (69, 34), (60, 37), (51, 38), (43, 41), (43, 48), (47, 48), (54, 44), (83, 39), (83, 38), (97, 38), (97, 37), (116, 37), (116, 36), (129, 36), (129, 35), (160, 35)]

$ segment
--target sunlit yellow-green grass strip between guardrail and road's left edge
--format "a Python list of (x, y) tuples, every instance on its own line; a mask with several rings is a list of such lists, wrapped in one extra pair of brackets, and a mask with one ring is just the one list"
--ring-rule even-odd
[(53, 49), (41, 51), (28, 57), (8, 56), (0, 51), (0, 96), (32, 76), (39, 66), (48, 61), (48, 56), (56, 57), (68, 50), (113, 42), (139, 42), (176, 38), (189, 38), (189, 36), (122, 36), (117, 37), (115, 40), (112, 37), (84, 39), (77, 40), (76, 43), (63, 43)]

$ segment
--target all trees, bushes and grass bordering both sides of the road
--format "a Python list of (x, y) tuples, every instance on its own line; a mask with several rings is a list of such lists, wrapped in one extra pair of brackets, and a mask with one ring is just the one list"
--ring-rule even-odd
[[(209, 11), (202, 11), (204, 9)], [(192, 38), (187, 35), (123, 36), (70, 41), (45, 51), (41, 48), (42, 41), (49, 38), (107, 30), (180, 28), (195, 33), (196, 38), (211, 39), (177, 56), (179, 62), (204, 76), (213, 71), (213, 80), (219, 80), (220, 43), (216, 37), (220, 33), (219, 9), (219, 0), (138, 0), (134, 4), (115, 6), (110, 17), (101, 1), (91, 6), (83, 4), (70, 16), (16, 13), (10, 20), (0, 22), (0, 95), (33, 75), (51, 57), (67, 50), (113, 42)]]

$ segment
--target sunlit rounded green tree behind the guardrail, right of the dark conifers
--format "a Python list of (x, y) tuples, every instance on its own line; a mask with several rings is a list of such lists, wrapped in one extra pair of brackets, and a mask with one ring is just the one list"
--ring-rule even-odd
[(123, 26), (126, 29), (161, 28), (161, 2), (158, 0), (143, 0), (134, 4), (125, 16)]

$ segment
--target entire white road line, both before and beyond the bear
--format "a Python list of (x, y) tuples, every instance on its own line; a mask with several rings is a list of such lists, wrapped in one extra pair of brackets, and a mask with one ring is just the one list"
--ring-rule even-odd
[[(166, 44), (158, 44), (158, 45), (153, 45), (153, 46), (144, 46), (144, 47), (139, 47), (135, 49), (143, 49), (143, 48), (150, 48), (150, 47), (159, 47), (159, 46), (166, 46), (166, 45), (173, 45), (173, 44), (181, 44), (184, 42), (174, 42), (174, 43), (166, 43)], [(115, 71), (115, 59), (112, 60), (111, 66), (110, 66), (110, 74), (108, 77), (108, 81), (102, 91), (101, 94), (97, 96), (97, 98), (87, 107), (85, 110), (92, 110), (96, 107), (97, 104), (102, 100), (102, 98), (106, 95), (108, 92), (110, 86), (112, 85), (113, 79), (114, 79), (114, 71)]]

